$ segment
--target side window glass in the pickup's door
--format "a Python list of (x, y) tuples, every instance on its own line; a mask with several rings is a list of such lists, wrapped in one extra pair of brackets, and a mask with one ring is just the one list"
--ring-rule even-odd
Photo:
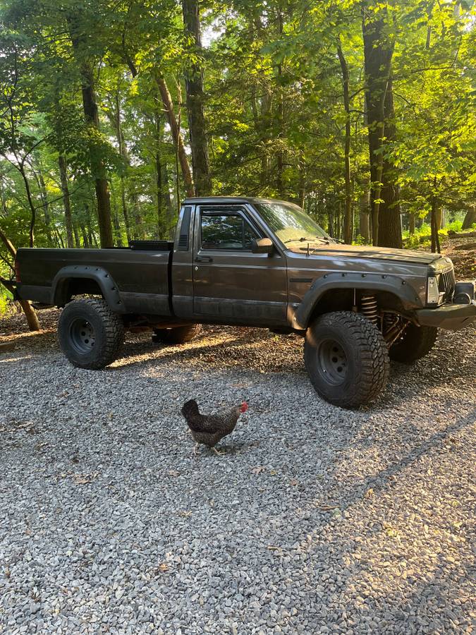
[(202, 249), (250, 250), (253, 238), (259, 238), (240, 214), (202, 212)]

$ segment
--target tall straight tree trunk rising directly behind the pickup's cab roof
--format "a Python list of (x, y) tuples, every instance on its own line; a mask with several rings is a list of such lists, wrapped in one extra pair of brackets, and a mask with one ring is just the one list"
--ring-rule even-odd
[[(182, 8), (185, 35), (191, 37), (194, 52), (200, 57), (202, 55), (202, 42), (198, 0), (182, 0)], [(207, 196), (212, 192), (212, 179), (210, 178), (203, 110), (203, 71), (199, 63), (192, 64), (185, 71), (185, 92), (195, 194)]]

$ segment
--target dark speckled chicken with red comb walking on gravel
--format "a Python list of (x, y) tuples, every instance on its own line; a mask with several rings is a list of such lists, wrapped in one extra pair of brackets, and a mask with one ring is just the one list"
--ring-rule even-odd
[(243, 401), (241, 406), (235, 406), (231, 410), (202, 415), (198, 410), (195, 399), (190, 399), (190, 401), (183, 404), (182, 414), (190, 428), (193, 440), (195, 440), (193, 454), (197, 454), (197, 448), (201, 443), (211, 448), (215, 454), (224, 454), (224, 452), (218, 452), (215, 445), (220, 439), (233, 432), (240, 414), (247, 410), (248, 404)]

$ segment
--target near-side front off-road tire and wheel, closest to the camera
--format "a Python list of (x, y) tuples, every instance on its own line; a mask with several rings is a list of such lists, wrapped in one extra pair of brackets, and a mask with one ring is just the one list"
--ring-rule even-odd
[(312, 322), (304, 361), (315, 390), (341, 408), (368, 404), (389, 379), (389, 353), (382, 333), (366, 317), (350, 311), (326, 313)]

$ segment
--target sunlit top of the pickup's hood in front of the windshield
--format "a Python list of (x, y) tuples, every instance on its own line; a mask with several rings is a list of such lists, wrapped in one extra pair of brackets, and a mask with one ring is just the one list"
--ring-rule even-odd
[[(301, 243), (298, 247), (292, 247), (291, 251), (306, 255), (307, 246)], [(329, 256), (330, 258), (372, 258), (374, 260), (393, 260), (394, 262), (410, 262), (414, 265), (438, 265), (438, 268), (451, 265), (449, 258), (444, 258), (438, 253), (425, 253), (424, 251), (412, 251), (408, 249), (393, 249), (388, 247), (367, 247), (357, 245), (341, 245), (331, 243), (310, 244), (310, 258), (312, 256)], [(441, 262), (437, 262), (440, 261)]]

